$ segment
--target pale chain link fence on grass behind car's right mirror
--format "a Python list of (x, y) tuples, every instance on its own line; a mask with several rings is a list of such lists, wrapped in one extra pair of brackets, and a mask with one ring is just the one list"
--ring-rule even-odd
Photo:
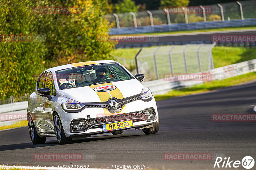
[(145, 81), (162, 79), (164, 74), (199, 73), (214, 68), (214, 44), (187, 44), (142, 48), (135, 61)]

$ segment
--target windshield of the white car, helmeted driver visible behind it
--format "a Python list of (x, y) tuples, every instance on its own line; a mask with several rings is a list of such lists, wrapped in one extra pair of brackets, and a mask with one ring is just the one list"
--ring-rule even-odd
[(56, 71), (60, 89), (130, 80), (132, 76), (117, 63), (92, 64)]

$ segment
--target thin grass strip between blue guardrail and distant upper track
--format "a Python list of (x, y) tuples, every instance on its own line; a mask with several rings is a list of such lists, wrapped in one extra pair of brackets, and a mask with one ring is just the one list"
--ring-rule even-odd
[[(247, 30), (256, 29), (256, 26), (246, 26), (246, 27), (229, 27), (229, 28), (213, 28), (213, 29), (203, 29), (203, 30), (184, 30), (184, 31), (171, 31), (171, 32), (156, 32), (156, 33), (145, 33), (143, 35), (162, 35), (162, 34), (177, 34), (177, 33), (191, 33), (191, 32), (210, 32), (210, 31), (228, 31), (228, 30)], [(127, 34), (129, 35), (129, 34)], [(141, 34), (132, 34), (141, 35)], [(113, 35), (115, 36), (115, 35)], [(125, 36), (125, 35), (122, 35)]]

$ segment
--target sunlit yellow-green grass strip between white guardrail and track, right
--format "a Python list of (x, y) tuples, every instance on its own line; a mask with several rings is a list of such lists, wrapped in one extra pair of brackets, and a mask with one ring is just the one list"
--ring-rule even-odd
[(155, 95), (155, 99), (164, 100), (164, 99), (177, 97), (177, 96), (193, 95), (193, 94), (198, 94), (198, 93), (207, 92), (211, 90), (225, 88), (228, 86), (234, 86), (241, 83), (251, 82), (255, 80), (256, 80), (256, 72), (252, 72), (252, 73), (238, 75), (235, 77), (230, 77), (224, 80), (204, 82), (204, 84), (195, 85), (189, 88), (172, 90), (164, 95)]

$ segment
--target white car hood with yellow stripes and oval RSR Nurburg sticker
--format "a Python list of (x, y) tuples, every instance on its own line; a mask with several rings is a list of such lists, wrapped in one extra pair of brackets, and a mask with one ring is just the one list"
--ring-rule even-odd
[[(110, 89), (105, 89), (105, 87)], [(138, 95), (141, 93), (142, 88), (143, 85), (137, 79), (131, 79), (91, 86), (76, 87), (72, 89), (63, 89), (60, 90), (60, 96), (76, 100), (80, 103), (106, 102), (109, 98), (112, 97), (122, 99)]]

